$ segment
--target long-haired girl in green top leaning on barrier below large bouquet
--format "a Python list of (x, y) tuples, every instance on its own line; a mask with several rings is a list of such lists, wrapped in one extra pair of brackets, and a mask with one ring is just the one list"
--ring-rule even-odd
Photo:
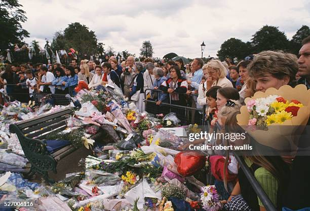
[[(238, 125), (237, 115), (239, 111), (231, 113), (225, 121), (225, 132), (227, 133), (244, 133), (244, 130)], [(273, 152), (273, 149), (258, 144), (253, 138), (246, 134), (246, 139), (236, 139), (234, 142), (229, 140), (232, 146), (243, 146), (249, 144), (253, 147), (252, 156), (246, 155), (246, 151), (241, 151), (247, 166), (251, 169), (254, 177), (267, 194), (268, 198), (278, 208), (282, 208), (282, 194), (287, 186), (289, 166), (280, 156), (263, 156), (262, 152)], [(225, 164), (227, 165), (227, 164)], [(224, 168), (225, 169), (225, 168)], [(224, 173), (225, 175), (225, 173)], [(251, 183), (245, 176), (244, 171), (239, 168), (238, 180), (234, 190), (225, 204), (227, 210), (231, 209), (232, 203), (247, 204), (252, 210), (265, 211), (261, 200), (257, 197)], [(226, 183), (224, 179), (224, 183)], [(231, 200), (231, 202), (229, 202)]]

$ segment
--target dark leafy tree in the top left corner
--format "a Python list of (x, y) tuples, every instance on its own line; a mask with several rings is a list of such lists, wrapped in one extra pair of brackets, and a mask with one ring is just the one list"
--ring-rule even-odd
[(29, 37), (28, 31), (21, 26), (21, 23), (27, 20), (25, 11), (20, 9), (21, 7), (18, 0), (0, 1), (0, 50), (2, 53), (15, 44), (21, 45), (23, 39)]

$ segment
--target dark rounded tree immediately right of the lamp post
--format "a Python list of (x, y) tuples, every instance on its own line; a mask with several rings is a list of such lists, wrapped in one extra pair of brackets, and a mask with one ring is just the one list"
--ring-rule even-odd
[(224, 60), (225, 58), (234, 60), (236, 57), (238, 60), (241, 60), (250, 53), (251, 49), (249, 48), (249, 44), (236, 38), (230, 38), (221, 45), (220, 50), (217, 52), (217, 56), (221, 60)]

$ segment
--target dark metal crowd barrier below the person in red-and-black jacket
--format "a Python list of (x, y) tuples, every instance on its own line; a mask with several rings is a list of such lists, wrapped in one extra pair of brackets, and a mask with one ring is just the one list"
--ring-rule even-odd
[[(205, 124), (205, 121), (204, 121), (205, 110), (204, 109), (185, 107), (182, 105), (176, 105), (176, 104), (165, 103), (165, 102), (162, 102), (161, 105), (157, 105), (156, 104), (157, 99), (146, 99), (147, 90), (156, 91), (158, 93), (162, 92), (162, 90), (158, 90), (158, 89), (146, 89), (144, 91), (144, 97), (145, 97), (144, 102), (145, 102), (146, 112), (150, 114), (154, 114), (154, 115), (157, 115), (157, 114), (166, 115), (170, 112), (174, 112), (177, 114), (177, 117), (181, 120), (181, 123), (180, 123), (181, 125), (189, 125), (189, 124), (194, 124), (194, 123), (198, 125)], [(191, 96), (197, 96), (197, 94), (191, 94)]]

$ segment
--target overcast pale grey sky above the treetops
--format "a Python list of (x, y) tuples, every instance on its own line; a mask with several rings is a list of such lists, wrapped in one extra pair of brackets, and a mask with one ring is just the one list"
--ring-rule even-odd
[(179, 56), (216, 56), (229, 38), (250, 41), (263, 25), (279, 26), (288, 39), (302, 26), (310, 26), (309, 0), (19, 0), (28, 20), (23, 27), (43, 47), (45, 38), (68, 24), (80, 22), (115, 51), (139, 55), (149, 40), (154, 57), (175, 52)]

